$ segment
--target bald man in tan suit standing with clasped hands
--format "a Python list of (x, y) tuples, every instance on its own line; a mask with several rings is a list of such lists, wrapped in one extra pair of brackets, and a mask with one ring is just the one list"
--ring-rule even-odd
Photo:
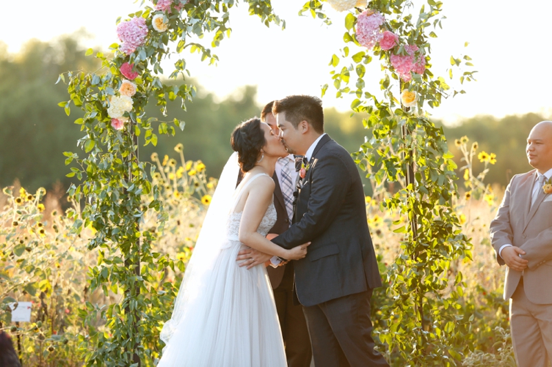
[(533, 127), (526, 147), (533, 171), (513, 176), (491, 222), (491, 242), (506, 264), (504, 300), (517, 364), (552, 363), (552, 122)]

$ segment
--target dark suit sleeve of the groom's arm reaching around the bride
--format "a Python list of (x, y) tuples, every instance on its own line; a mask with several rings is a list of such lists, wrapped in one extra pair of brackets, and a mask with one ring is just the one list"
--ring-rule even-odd
[(338, 156), (317, 160), (311, 169), (311, 196), (304, 216), (272, 241), (293, 249), (317, 238), (339, 213), (351, 185), (351, 174)]

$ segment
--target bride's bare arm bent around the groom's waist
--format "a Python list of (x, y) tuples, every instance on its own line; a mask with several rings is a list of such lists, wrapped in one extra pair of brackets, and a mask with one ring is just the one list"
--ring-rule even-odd
[[(277, 244), (270, 242), (264, 236), (257, 232), (257, 228), (272, 202), (275, 183), (272, 178), (259, 177), (261, 185), (251, 185), (251, 189), (246, 198), (242, 221), (239, 225), (239, 241), (252, 249), (268, 253), (269, 255), (279, 256), (288, 260), (297, 260), (306, 255), (306, 245), (299, 247), (299, 251), (286, 250)], [(262, 180), (262, 183), (260, 182)]]

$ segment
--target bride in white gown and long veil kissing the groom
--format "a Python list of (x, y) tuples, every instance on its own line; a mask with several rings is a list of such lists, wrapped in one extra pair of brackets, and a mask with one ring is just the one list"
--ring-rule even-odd
[[(161, 331), (166, 347), (159, 367), (284, 367), (284, 342), (263, 265), (236, 262), (253, 248), (288, 260), (306, 256), (308, 244), (286, 250), (265, 238), (276, 222), (275, 163), (288, 152), (259, 118), (237, 126), (184, 273), (172, 317)], [(239, 169), (244, 179), (235, 187)], [(248, 261), (248, 260), (244, 260)]]

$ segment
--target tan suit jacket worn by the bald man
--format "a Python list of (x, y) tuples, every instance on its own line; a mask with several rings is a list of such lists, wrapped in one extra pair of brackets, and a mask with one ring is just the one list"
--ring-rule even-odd
[[(540, 190), (531, 207), (536, 178), (535, 169), (513, 176), (491, 222), (491, 243), (500, 265), (504, 260), (498, 251), (504, 244), (523, 249), (522, 258), (529, 261), (523, 272), (526, 297), (534, 304), (552, 304), (552, 194)], [(520, 271), (506, 267), (504, 300), (512, 297), (521, 277)]]

